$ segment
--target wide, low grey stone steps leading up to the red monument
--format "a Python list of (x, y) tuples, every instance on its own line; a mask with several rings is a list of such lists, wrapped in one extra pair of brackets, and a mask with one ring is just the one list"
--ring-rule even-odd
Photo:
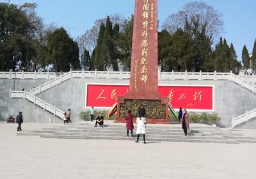
[[(60, 139), (108, 139), (108, 140), (136, 140), (136, 126), (133, 138), (126, 137), (125, 124), (109, 124), (104, 127), (94, 127), (94, 123), (67, 123), (63, 126), (42, 128), (42, 130), (27, 130), (17, 132), (17, 136), (40, 136), (44, 138)], [(143, 137), (140, 137), (143, 140)], [(256, 138), (244, 137), (230, 130), (218, 127), (191, 127), (188, 136), (180, 125), (148, 125), (146, 128), (146, 141), (148, 142), (185, 142), (185, 143), (256, 143)]]

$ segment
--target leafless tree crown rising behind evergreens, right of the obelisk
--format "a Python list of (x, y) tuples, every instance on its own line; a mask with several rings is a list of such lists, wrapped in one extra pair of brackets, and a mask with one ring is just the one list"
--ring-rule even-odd
[(197, 18), (200, 27), (204, 26), (208, 36), (211, 36), (214, 42), (218, 41), (224, 32), (223, 15), (206, 3), (192, 1), (186, 4), (181, 11), (169, 15), (163, 23), (162, 29), (166, 29), (173, 34), (177, 29), (184, 29), (186, 19), (192, 22)]

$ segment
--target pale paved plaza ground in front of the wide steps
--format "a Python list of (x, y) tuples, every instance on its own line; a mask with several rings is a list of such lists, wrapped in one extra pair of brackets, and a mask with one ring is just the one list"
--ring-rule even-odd
[[(54, 124), (56, 125), (56, 124)], [(62, 125), (62, 124), (58, 124)], [(24, 130), (53, 124), (24, 123)], [(47, 139), (0, 123), (0, 178), (256, 178), (256, 144)], [(256, 130), (237, 130), (256, 137)]]

